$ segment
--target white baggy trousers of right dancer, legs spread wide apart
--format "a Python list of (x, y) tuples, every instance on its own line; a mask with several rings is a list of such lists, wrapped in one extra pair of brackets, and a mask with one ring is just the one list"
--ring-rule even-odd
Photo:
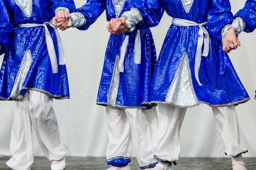
[[(240, 144), (238, 121), (235, 106), (212, 107), (213, 115), (220, 125), (221, 135), (226, 146), (226, 154), (236, 157), (247, 152)], [(159, 104), (159, 133), (153, 149), (154, 157), (161, 162), (176, 164), (180, 155), (180, 128), (186, 108), (178, 108), (169, 104)]]

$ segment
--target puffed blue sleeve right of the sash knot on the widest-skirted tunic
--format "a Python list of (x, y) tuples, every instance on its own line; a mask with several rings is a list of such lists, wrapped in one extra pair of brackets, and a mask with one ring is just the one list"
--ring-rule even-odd
[(211, 0), (207, 19), (210, 32), (215, 38), (222, 41), (222, 29), (233, 22), (229, 0)]

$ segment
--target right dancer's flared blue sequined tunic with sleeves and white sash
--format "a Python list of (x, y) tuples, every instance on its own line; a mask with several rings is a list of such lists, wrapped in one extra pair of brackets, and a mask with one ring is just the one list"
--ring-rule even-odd
[(168, 29), (157, 61), (150, 85), (151, 104), (219, 107), (249, 100), (229, 56), (222, 51), (222, 28), (233, 21), (229, 0), (144, 1), (134, 4), (143, 16), (141, 27), (157, 25), (164, 10), (179, 18)]

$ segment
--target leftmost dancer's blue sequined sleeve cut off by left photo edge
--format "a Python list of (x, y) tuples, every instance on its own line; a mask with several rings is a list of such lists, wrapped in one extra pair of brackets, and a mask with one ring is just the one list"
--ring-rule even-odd
[(0, 55), (7, 50), (11, 39), (11, 33), (13, 32), (11, 16), (6, 3), (5, 0), (0, 0)]

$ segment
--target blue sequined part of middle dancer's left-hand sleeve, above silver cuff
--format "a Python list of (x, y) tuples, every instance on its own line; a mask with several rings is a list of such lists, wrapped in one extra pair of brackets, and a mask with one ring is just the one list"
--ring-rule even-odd
[(84, 26), (77, 27), (79, 30), (87, 30), (105, 10), (105, 0), (87, 0), (83, 7), (76, 9), (85, 16), (86, 23)]

